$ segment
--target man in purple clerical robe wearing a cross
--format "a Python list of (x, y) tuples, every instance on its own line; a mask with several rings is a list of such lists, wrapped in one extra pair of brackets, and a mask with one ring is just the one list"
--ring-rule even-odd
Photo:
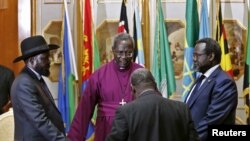
[(119, 33), (114, 39), (112, 52), (114, 59), (91, 75), (83, 92), (68, 133), (72, 141), (85, 140), (96, 105), (94, 141), (104, 141), (111, 131), (116, 109), (134, 99), (129, 79), (131, 73), (142, 66), (132, 62), (133, 38), (127, 33)]

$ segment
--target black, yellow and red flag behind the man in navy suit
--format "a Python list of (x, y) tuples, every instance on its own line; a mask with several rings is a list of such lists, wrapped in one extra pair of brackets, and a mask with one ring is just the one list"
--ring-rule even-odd
[(224, 24), (222, 23), (222, 14), (221, 14), (221, 4), (219, 1), (219, 9), (216, 16), (216, 40), (220, 44), (221, 47), (221, 68), (226, 71), (231, 77), (233, 77), (233, 67), (231, 63), (231, 58), (229, 54), (228, 44), (227, 44), (227, 36), (224, 28)]

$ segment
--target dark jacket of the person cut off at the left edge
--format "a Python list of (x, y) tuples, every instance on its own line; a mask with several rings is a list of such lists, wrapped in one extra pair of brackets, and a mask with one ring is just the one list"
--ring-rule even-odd
[(3, 113), (3, 106), (10, 100), (10, 88), (14, 79), (13, 71), (0, 65), (0, 114)]

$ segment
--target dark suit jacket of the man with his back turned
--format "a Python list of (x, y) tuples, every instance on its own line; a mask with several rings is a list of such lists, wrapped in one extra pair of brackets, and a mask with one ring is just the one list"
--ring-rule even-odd
[(116, 111), (106, 141), (196, 141), (186, 104), (147, 91)]

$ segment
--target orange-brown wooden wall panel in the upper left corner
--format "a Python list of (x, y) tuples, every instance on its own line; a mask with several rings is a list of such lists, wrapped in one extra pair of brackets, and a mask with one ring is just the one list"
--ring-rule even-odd
[(20, 71), (19, 65), (12, 63), (18, 56), (17, 0), (1, 1), (5, 2), (5, 6), (0, 9), (0, 64), (17, 74)]

